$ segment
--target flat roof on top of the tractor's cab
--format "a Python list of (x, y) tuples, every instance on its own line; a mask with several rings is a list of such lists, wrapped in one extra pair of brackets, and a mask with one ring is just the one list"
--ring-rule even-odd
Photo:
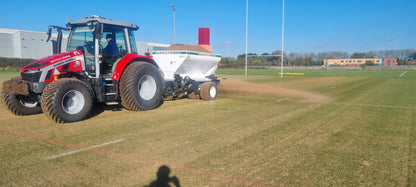
[(139, 26), (137, 26), (134, 23), (128, 23), (128, 22), (124, 22), (124, 21), (116, 21), (116, 20), (107, 19), (107, 18), (103, 18), (103, 17), (100, 17), (100, 16), (96, 16), (96, 15), (92, 15), (90, 17), (85, 17), (85, 18), (82, 18), (82, 19), (77, 20), (77, 21), (69, 21), (67, 26), (86, 25), (86, 24), (92, 23), (92, 22), (99, 22), (99, 23), (108, 24), (108, 25), (127, 27), (127, 28), (130, 28), (130, 29), (133, 29), (133, 30), (139, 29)]

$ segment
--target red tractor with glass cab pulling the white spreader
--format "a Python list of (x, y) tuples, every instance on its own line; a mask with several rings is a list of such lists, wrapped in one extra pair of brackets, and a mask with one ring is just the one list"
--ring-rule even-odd
[[(43, 112), (67, 123), (87, 118), (94, 102), (121, 103), (133, 111), (162, 104), (164, 80), (151, 56), (137, 54), (136, 24), (91, 16), (65, 28), (50, 26), (49, 36), (52, 28), (59, 33), (56, 54), (29, 63), (21, 76), (3, 83), (2, 100), (12, 113)], [(61, 30), (70, 31), (68, 52), (59, 51)], [(104, 36), (113, 40), (114, 55), (105, 55)]]

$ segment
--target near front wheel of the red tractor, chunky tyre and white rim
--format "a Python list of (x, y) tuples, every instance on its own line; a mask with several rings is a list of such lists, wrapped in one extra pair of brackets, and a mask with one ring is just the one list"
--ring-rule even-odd
[(73, 78), (63, 78), (46, 86), (42, 93), (43, 113), (57, 123), (71, 123), (87, 118), (92, 108), (90, 87)]

